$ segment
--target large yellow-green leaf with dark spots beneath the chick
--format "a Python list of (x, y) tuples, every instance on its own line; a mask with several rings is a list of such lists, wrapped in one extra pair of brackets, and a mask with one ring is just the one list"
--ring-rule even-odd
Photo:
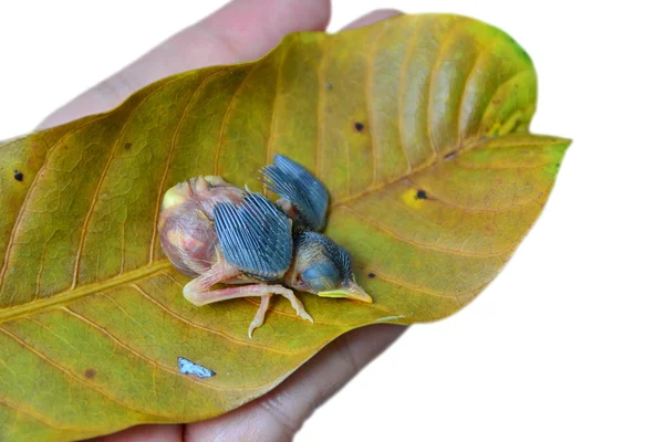
[[(2, 439), (76, 439), (231, 410), (340, 334), (448, 316), (531, 227), (569, 141), (535, 136), (536, 75), (501, 31), (404, 15), (298, 33), (256, 63), (159, 81), (122, 106), (0, 147)], [(281, 152), (332, 194), (328, 233), (375, 303), (195, 307), (160, 250), (166, 189), (259, 189)], [(183, 375), (184, 357), (216, 371)]]

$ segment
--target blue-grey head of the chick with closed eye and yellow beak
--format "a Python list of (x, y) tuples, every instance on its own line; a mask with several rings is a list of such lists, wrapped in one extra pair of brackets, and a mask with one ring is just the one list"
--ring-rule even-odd
[(297, 232), (293, 251), (293, 262), (284, 276), (290, 287), (321, 297), (372, 302), (355, 282), (351, 255), (330, 238), (312, 231)]

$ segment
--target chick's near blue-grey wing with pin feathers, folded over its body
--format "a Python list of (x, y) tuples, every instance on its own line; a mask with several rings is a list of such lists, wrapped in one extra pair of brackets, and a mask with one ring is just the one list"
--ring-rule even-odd
[(262, 194), (247, 193), (240, 204), (217, 204), (215, 229), (224, 257), (242, 273), (277, 281), (290, 266), (291, 220)]

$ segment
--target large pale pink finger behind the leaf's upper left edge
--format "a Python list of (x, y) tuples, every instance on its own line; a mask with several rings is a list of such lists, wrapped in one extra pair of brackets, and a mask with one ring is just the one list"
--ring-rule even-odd
[(322, 31), (329, 21), (330, 0), (235, 0), (55, 110), (39, 128), (108, 110), (168, 75), (258, 59), (287, 33)]

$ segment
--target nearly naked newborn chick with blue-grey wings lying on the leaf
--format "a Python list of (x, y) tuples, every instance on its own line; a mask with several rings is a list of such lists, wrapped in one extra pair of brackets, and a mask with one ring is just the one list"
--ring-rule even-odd
[[(185, 298), (199, 306), (259, 296), (249, 338), (262, 325), (273, 294), (286, 297), (298, 316), (313, 323), (287, 287), (371, 303), (355, 282), (349, 252), (319, 233), (329, 202), (324, 186), (280, 155), (261, 173), (267, 188), (281, 197), (276, 203), (211, 176), (191, 178), (164, 194), (162, 248), (175, 267), (196, 276), (185, 285)], [(238, 286), (212, 290), (217, 283)]]

